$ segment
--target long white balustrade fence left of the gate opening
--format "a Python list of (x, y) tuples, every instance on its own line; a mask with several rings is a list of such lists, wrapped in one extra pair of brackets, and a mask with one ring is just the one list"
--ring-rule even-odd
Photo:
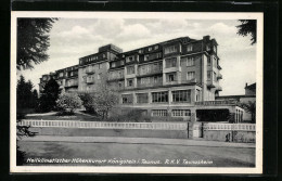
[(18, 126), (85, 128), (85, 129), (148, 129), (148, 130), (187, 130), (187, 122), (104, 122), (77, 120), (22, 120)]

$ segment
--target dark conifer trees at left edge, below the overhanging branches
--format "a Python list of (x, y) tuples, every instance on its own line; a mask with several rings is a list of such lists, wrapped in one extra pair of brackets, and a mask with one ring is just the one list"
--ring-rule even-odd
[(20, 77), (16, 85), (16, 107), (35, 108), (37, 106), (37, 90), (33, 90), (34, 85), (30, 80), (26, 81), (24, 76)]

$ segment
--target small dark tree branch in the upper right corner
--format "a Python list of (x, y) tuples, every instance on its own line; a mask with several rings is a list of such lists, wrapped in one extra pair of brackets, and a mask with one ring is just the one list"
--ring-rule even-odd
[(238, 35), (247, 36), (251, 35), (251, 44), (257, 42), (257, 21), (256, 20), (240, 20), (241, 25), (236, 26)]

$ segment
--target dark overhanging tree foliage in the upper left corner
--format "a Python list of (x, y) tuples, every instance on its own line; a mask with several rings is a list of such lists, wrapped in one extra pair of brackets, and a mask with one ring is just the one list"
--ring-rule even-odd
[(17, 69), (33, 69), (47, 61), (49, 33), (57, 18), (17, 18)]

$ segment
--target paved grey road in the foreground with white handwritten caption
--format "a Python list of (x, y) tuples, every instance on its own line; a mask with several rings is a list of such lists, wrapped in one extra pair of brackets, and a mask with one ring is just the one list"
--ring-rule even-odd
[[(29, 158), (26, 165), (255, 166), (254, 144), (177, 139), (43, 135), (22, 140), (18, 144)], [(61, 161), (61, 164), (54, 161)], [(67, 164), (62, 164), (62, 161)]]

